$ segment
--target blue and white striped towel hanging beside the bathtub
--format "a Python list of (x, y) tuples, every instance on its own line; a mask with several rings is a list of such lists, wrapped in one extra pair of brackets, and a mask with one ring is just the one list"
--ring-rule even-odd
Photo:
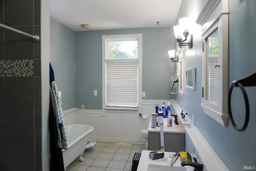
[(67, 140), (67, 134), (66, 134), (66, 130), (65, 130), (63, 111), (62, 111), (62, 107), (61, 107), (60, 96), (58, 94), (58, 87), (54, 80), (54, 72), (53, 72), (51, 64), (50, 64), (50, 82), (52, 85), (52, 92), (53, 92), (53, 96), (54, 96), (55, 105), (57, 106), (56, 114), (57, 114), (58, 125), (61, 130), (61, 137), (62, 137), (62, 141), (60, 141), (58, 139), (58, 147), (64, 148), (65, 150), (67, 150), (68, 149), (68, 140)]

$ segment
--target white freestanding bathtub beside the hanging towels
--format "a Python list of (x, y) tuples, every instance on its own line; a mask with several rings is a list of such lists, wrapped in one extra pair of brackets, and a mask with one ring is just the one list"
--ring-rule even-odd
[(73, 124), (65, 125), (65, 129), (68, 137), (68, 150), (62, 149), (62, 155), (64, 167), (66, 168), (76, 157), (84, 152), (88, 135), (94, 128), (90, 125)]

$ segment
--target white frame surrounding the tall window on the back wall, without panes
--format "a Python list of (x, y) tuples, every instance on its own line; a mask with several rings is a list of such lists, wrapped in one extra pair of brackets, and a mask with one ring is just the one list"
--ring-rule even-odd
[[(138, 108), (136, 107), (106, 107), (106, 61), (108, 56), (108, 42), (111, 40), (138, 40)], [(129, 60), (129, 59), (125, 59)], [(134, 59), (130, 59), (133, 60)], [(142, 34), (102, 35), (102, 115), (109, 112), (139, 113), (142, 108)]]

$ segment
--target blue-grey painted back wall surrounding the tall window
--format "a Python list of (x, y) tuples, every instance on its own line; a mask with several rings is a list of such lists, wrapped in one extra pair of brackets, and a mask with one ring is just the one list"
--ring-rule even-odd
[[(143, 99), (172, 99), (170, 77), (174, 63), (168, 50), (174, 49), (171, 27), (76, 32), (76, 107), (102, 109), (102, 35), (142, 33)], [(98, 96), (94, 96), (98, 90)]]

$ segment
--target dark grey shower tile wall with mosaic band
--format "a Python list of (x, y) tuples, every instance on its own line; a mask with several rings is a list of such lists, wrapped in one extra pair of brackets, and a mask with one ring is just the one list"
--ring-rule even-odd
[[(40, 0), (0, 0), (0, 23), (40, 36)], [(40, 41), (0, 28), (0, 170), (42, 170)]]

